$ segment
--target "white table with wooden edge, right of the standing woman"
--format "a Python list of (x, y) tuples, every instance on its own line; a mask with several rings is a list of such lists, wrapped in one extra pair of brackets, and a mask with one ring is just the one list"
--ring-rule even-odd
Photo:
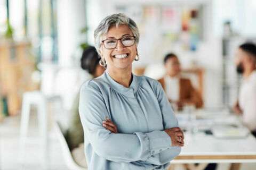
[(246, 138), (225, 139), (215, 138), (202, 131), (223, 124), (242, 126), (241, 121), (235, 115), (200, 112), (197, 113), (200, 119), (196, 121), (191, 121), (191, 118), (189, 120), (189, 114), (179, 113), (177, 117), (181, 127), (186, 128), (193, 124), (198, 132), (191, 132), (190, 128), (190, 131), (184, 133), (185, 146), (182, 147), (180, 155), (171, 161), (172, 164), (256, 163), (256, 138), (252, 134), (247, 135)]

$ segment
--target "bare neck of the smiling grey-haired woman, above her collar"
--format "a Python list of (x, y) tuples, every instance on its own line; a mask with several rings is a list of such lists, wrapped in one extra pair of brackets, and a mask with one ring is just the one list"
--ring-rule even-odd
[(132, 69), (130, 69), (129, 71), (107, 69), (107, 72), (110, 77), (117, 83), (127, 88), (130, 87), (130, 84), (132, 83)]

